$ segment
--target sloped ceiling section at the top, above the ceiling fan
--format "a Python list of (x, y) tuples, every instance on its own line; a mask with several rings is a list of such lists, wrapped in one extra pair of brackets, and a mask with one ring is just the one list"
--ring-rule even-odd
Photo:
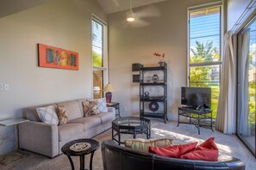
[[(132, 0), (133, 8), (166, 0)], [(97, 0), (107, 14), (129, 9), (129, 0)]]

